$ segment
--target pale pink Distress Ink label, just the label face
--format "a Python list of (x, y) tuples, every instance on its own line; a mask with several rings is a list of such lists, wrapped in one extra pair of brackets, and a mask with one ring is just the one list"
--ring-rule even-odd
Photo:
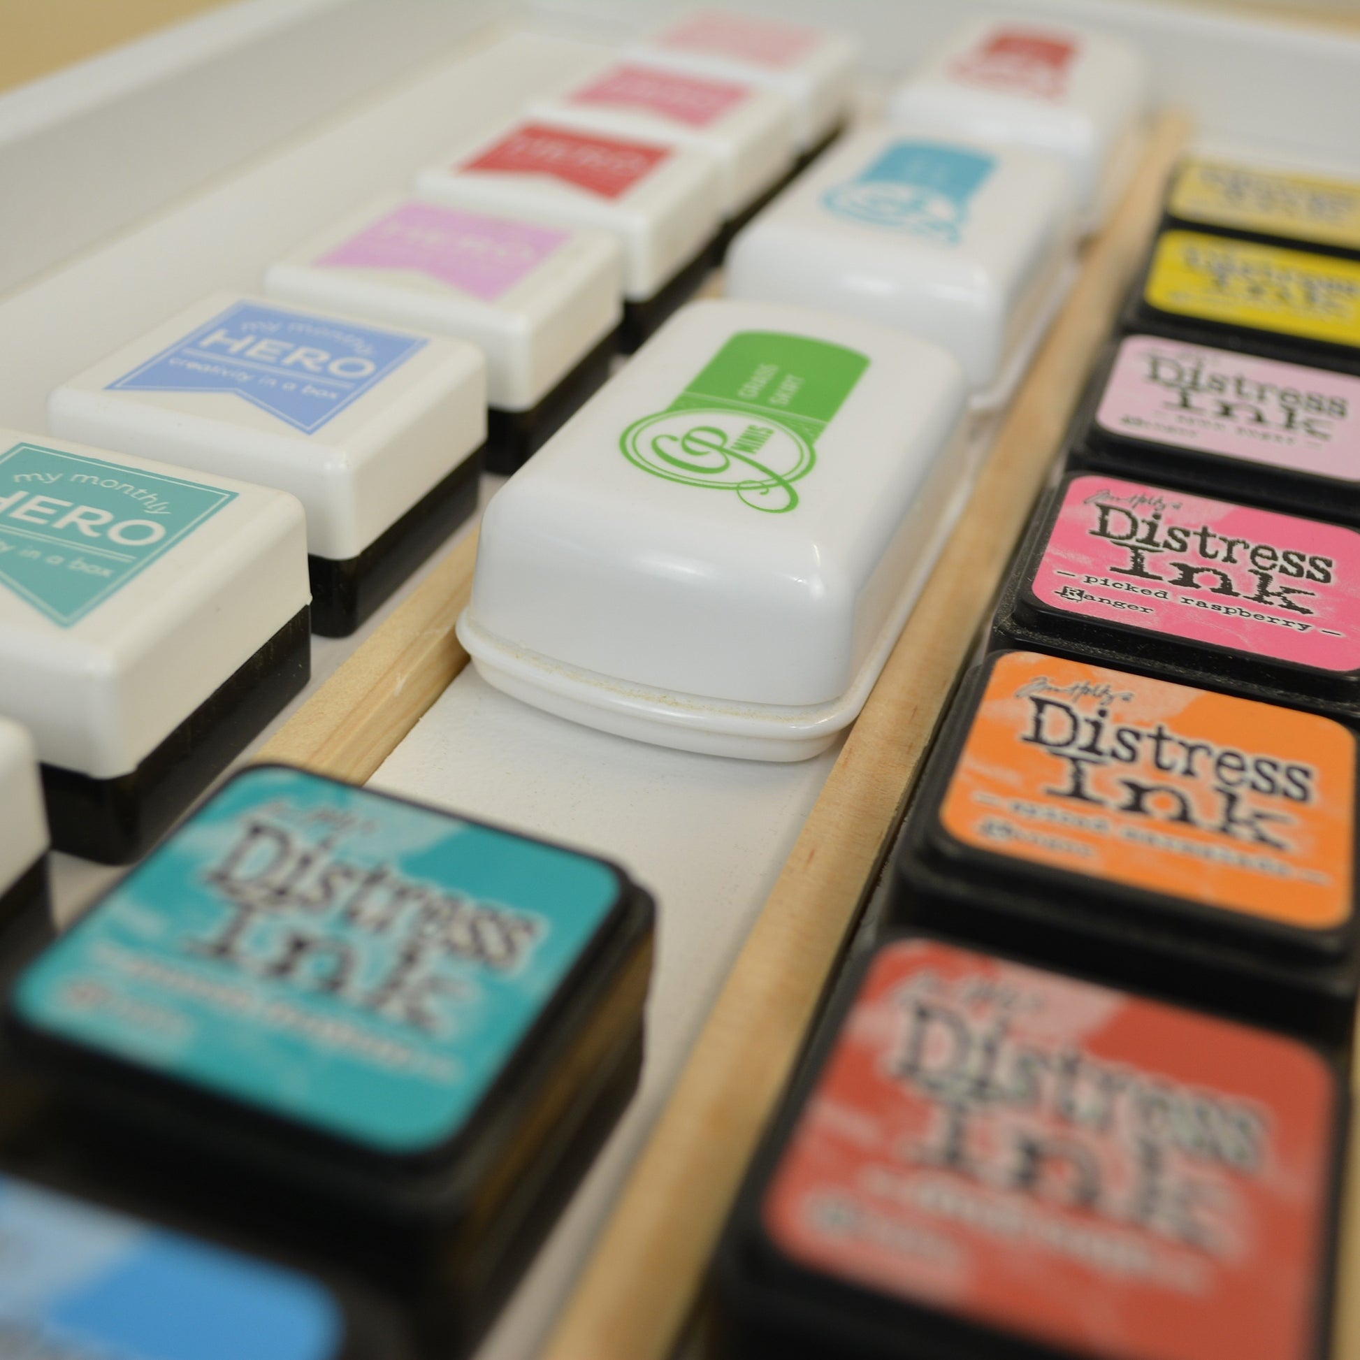
[(1119, 345), (1111, 434), (1360, 481), (1360, 378), (1151, 336)]

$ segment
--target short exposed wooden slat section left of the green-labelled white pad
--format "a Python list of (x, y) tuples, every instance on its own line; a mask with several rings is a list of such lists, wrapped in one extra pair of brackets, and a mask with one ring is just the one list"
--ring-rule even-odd
[(256, 759), (363, 783), (468, 664), (453, 626), (472, 594), (476, 558), (471, 533)]

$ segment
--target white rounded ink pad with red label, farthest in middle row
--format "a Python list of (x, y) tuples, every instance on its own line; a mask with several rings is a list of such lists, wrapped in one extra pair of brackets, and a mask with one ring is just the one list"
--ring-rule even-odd
[(1093, 231), (1137, 165), (1146, 99), (1148, 63), (1133, 44), (1059, 23), (978, 18), (898, 86), (887, 118), (1059, 160), (1083, 227)]

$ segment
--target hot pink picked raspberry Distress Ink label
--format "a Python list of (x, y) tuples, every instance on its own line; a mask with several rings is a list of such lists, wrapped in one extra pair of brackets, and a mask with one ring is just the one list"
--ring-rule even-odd
[(1315, 520), (1076, 477), (1031, 590), (1089, 619), (1360, 669), (1360, 534)]

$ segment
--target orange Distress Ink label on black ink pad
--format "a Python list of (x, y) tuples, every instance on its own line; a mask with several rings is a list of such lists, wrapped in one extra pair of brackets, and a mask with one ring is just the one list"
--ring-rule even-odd
[(1326, 930), (1352, 913), (1355, 767), (1327, 718), (1008, 653), (940, 821), (990, 854)]

